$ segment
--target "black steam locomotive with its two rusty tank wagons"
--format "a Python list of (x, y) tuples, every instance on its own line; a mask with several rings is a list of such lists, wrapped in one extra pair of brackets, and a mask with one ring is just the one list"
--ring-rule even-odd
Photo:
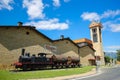
[(14, 66), (16, 69), (20, 68), (22, 70), (80, 67), (80, 59), (79, 57), (64, 57), (46, 53), (30, 56), (30, 53), (25, 53), (25, 49), (22, 49), (22, 54), (19, 56), (18, 62), (14, 63)]

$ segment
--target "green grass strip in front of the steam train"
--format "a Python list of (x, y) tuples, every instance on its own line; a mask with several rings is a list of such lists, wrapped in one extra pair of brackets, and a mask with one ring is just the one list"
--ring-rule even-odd
[(9, 70), (0, 70), (0, 80), (25, 80), (25, 79), (38, 79), (38, 78), (52, 78), (58, 76), (67, 76), (73, 74), (81, 74), (88, 72), (92, 66), (83, 68), (67, 68), (55, 70), (38, 70), (38, 71), (19, 71), (13, 72)]

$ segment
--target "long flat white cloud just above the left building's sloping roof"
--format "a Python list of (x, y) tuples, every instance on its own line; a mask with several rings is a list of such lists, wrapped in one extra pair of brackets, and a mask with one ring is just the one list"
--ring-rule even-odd
[(25, 25), (33, 25), (37, 29), (43, 29), (43, 30), (64, 30), (68, 29), (69, 24), (67, 23), (68, 20), (64, 23), (60, 23), (59, 19), (54, 18), (54, 19), (49, 19), (49, 20), (44, 20), (44, 21), (31, 21), (28, 23), (25, 23)]

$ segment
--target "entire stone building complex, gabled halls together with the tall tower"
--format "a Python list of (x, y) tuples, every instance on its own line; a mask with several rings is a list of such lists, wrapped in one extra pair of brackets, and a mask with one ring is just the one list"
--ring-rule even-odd
[(82, 65), (94, 65), (96, 51), (97, 56), (100, 56), (101, 61), (104, 62), (101, 25), (91, 23), (90, 32), (91, 40), (83, 38), (72, 41), (64, 36), (58, 40), (52, 40), (37, 31), (35, 27), (24, 26), (21, 22), (18, 26), (0, 26), (0, 64), (16, 62), (23, 48), (31, 55), (47, 53), (79, 57)]

